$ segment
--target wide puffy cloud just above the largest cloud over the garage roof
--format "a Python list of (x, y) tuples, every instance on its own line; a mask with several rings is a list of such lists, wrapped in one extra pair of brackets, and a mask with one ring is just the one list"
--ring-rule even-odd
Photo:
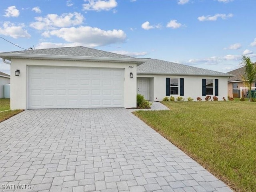
[(82, 14), (65, 13), (58, 16), (57, 14), (48, 14), (45, 18), (35, 17), (36, 22), (32, 22), (30, 27), (37, 30), (56, 29), (56, 27), (69, 27), (83, 23), (84, 16)]

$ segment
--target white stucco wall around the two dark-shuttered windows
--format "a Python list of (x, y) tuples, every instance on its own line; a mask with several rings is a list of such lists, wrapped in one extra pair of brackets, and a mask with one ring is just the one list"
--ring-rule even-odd
[[(150, 89), (154, 89), (154, 100), (162, 101), (166, 96), (166, 78), (184, 78), (184, 96), (185, 100), (188, 97), (193, 98), (196, 101), (197, 97), (201, 97), (204, 100), (205, 96), (202, 96), (202, 79), (218, 79), (218, 100), (222, 100), (223, 97), (228, 97), (228, 77), (218, 76), (168, 76), (168, 75), (144, 75), (138, 74), (138, 77), (154, 78), (154, 87), (150, 86)], [(214, 90), (214, 88), (213, 88)], [(179, 90), (180, 94), (180, 90)], [(214, 93), (215, 94), (215, 93)], [(212, 97), (214, 96), (211, 95)], [(179, 95), (172, 95), (176, 98)], [(168, 96), (170, 97), (170, 96)]]

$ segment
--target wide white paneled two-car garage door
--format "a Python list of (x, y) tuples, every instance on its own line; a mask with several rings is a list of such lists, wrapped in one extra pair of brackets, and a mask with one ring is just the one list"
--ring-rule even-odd
[(29, 66), (28, 108), (124, 106), (124, 70)]

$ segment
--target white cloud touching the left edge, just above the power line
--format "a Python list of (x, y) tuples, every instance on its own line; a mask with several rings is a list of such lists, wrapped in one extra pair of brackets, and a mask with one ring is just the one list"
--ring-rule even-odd
[(27, 30), (24, 30), (24, 24), (19, 24), (15, 26), (15, 24), (11, 22), (4, 22), (3, 27), (0, 27), (0, 34), (5, 36), (10, 36), (12, 38), (30, 38), (30, 34), (28, 34)]

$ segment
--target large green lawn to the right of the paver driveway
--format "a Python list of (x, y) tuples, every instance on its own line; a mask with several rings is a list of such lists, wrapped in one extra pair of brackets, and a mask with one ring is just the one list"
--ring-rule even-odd
[(239, 192), (256, 191), (256, 102), (162, 102), (134, 114)]

